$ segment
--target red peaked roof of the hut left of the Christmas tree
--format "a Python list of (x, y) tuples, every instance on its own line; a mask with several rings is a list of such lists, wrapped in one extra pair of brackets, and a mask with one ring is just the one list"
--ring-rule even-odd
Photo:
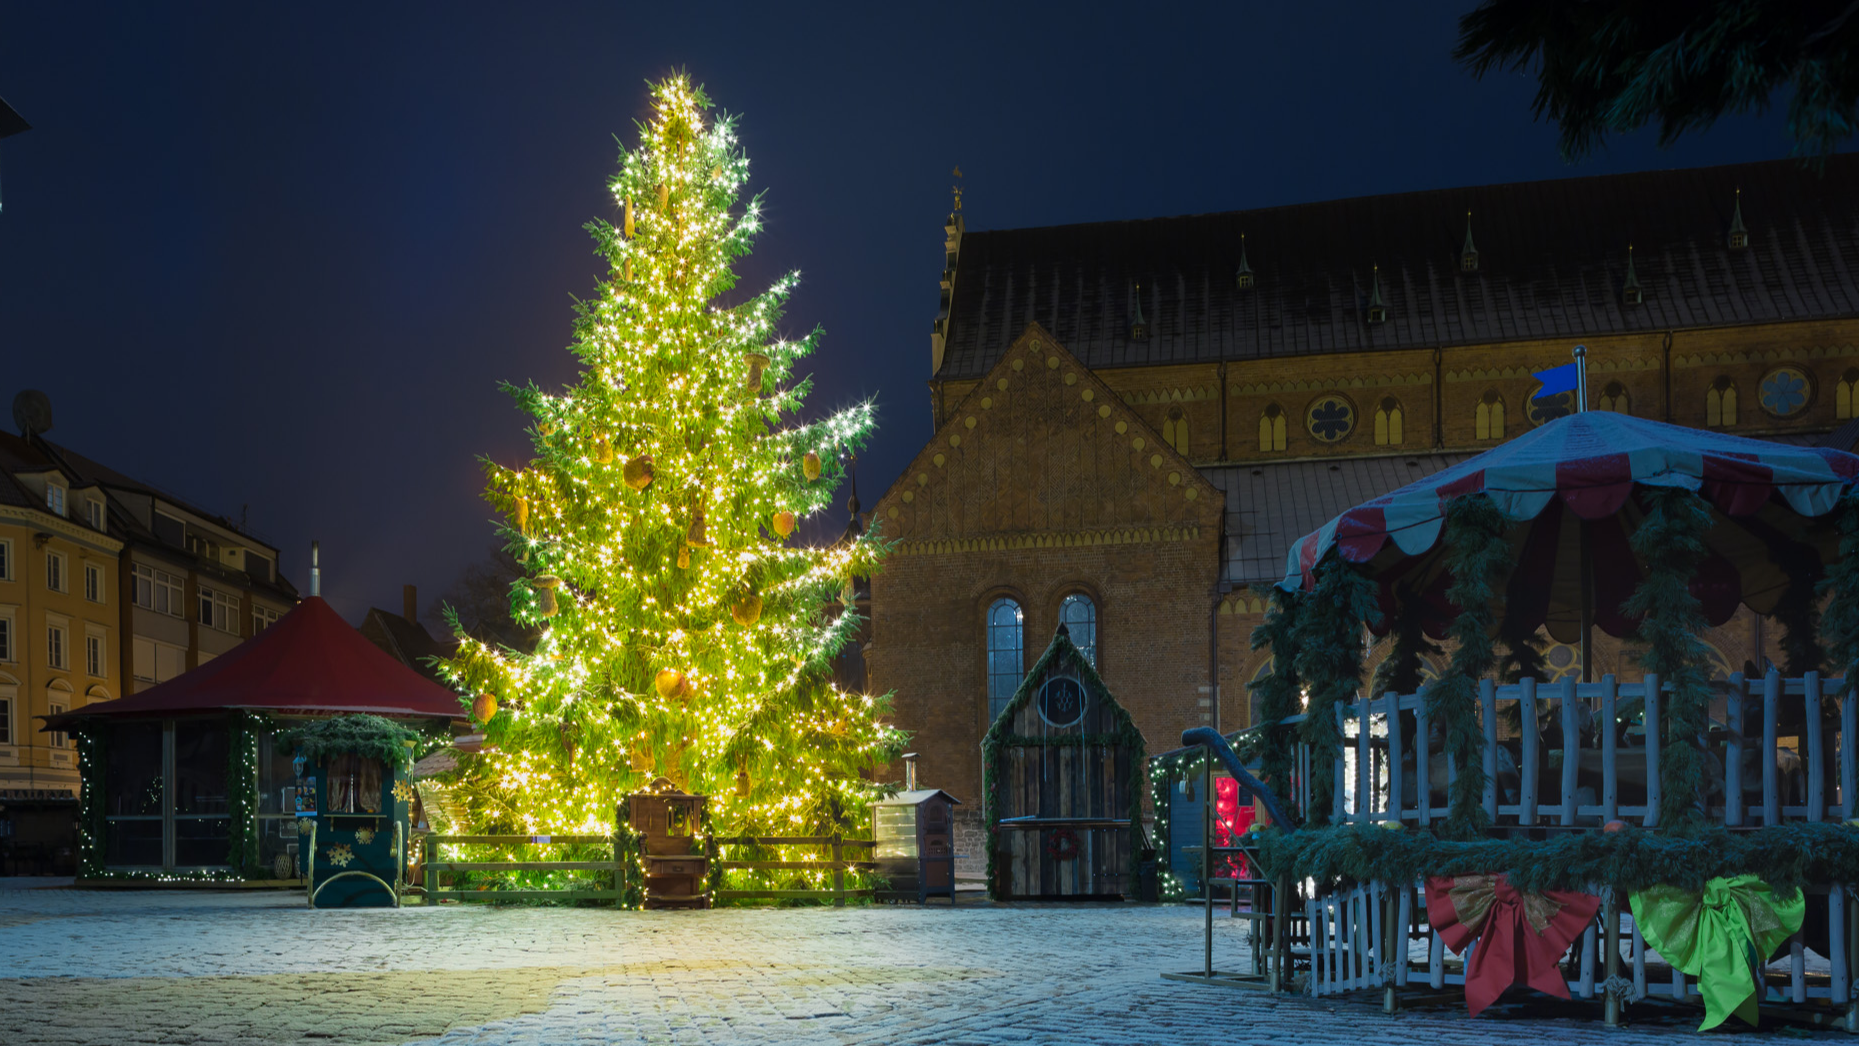
[(184, 715), (225, 708), (461, 715), (457, 693), (381, 652), (327, 602), (310, 596), (271, 628), (191, 673), (138, 695), (48, 717), (46, 723), (58, 726), (91, 715)]

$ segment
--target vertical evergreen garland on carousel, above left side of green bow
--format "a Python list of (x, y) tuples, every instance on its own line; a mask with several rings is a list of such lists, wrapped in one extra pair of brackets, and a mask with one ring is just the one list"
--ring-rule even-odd
[(1641, 492), (1645, 520), (1632, 535), (1632, 552), (1645, 563), (1645, 580), (1623, 609), (1640, 617), (1634, 643), (1640, 671), (1658, 673), (1669, 687), (1662, 708), (1660, 808), (1658, 823), (1668, 829), (1695, 821), (1705, 784), (1701, 738), (1710, 715), (1710, 656), (1697, 637), (1705, 630), (1705, 608), (1692, 595), (1692, 578), (1708, 556), (1705, 531), (1710, 507), (1682, 487), (1649, 487)]

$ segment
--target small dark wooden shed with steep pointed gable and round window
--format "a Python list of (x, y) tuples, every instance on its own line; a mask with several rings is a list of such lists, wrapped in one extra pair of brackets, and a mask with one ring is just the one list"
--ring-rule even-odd
[(989, 896), (1134, 894), (1143, 749), (1061, 624), (982, 739)]

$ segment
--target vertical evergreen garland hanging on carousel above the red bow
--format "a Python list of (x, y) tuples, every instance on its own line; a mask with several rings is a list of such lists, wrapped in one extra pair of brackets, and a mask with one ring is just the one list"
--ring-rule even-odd
[(1459, 613), (1448, 630), (1454, 641), (1452, 663), (1433, 686), (1426, 687), (1426, 713), (1444, 728), (1444, 749), (1457, 775), (1452, 780), (1452, 806), (1444, 829), (1454, 838), (1480, 836), (1489, 825), (1483, 808), (1485, 764), (1478, 680), (1496, 663), (1491, 643), (1491, 600), (1496, 583), (1511, 570), (1511, 546), (1504, 539), (1510, 522), (1510, 516), (1485, 494), (1465, 494), (1446, 505), (1446, 570), (1452, 574), (1446, 598), (1459, 608)]

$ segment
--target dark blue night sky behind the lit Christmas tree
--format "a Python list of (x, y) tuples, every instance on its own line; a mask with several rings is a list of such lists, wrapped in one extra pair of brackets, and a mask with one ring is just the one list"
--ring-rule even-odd
[(814, 407), (877, 398), (866, 505), (930, 435), (956, 163), (969, 229), (1011, 229), (1788, 150), (1772, 111), (1569, 167), (1532, 78), (1452, 63), (1454, 4), (798, 7), (0, 7), (33, 124), (0, 141), (0, 403), (43, 388), (56, 442), (247, 513), (305, 591), (320, 539), (357, 621), (491, 544), (478, 455), (526, 453), (496, 383), (571, 379), (582, 225), (673, 69), (744, 117), (744, 290), (803, 271)]

